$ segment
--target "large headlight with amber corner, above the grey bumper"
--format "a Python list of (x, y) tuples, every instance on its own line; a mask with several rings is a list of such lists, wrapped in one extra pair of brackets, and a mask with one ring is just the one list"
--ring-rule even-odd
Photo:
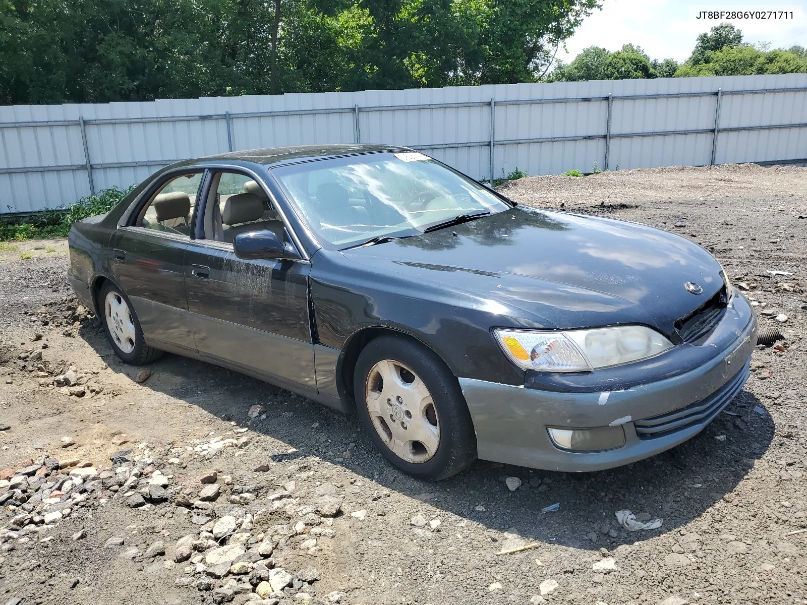
[(672, 348), (664, 336), (644, 326), (567, 332), (496, 329), (512, 362), (544, 372), (585, 372), (654, 357)]

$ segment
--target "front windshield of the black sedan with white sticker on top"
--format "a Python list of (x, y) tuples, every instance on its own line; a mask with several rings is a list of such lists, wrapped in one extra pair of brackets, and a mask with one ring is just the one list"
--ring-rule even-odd
[(320, 241), (340, 249), (508, 209), (485, 187), (418, 152), (329, 158), (272, 173)]

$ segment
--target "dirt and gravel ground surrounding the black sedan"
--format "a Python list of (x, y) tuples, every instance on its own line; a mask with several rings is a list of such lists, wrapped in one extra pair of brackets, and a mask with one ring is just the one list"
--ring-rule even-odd
[[(275, 605), (807, 603), (807, 532), (788, 535), (807, 528), (807, 168), (502, 190), (688, 237), (784, 341), (755, 350), (742, 393), (670, 453), (592, 474), (480, 461), (427, 483), (387, 465), (355, 416), (238, 373), (165, 355), (135, 382), (142, 368), (119, 363), (70, 297), (64, 242), (0, 251), (0, 603), (245, 603), (253, 590)], [(625, 531), (623, 509), (663, 523)]]

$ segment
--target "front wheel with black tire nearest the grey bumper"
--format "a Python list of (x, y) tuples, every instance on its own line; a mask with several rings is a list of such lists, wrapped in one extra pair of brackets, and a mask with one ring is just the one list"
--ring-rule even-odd
[(439, 481), (476, 460), (457, 378), (424, 345), (398, 336), (371, 340), (356, 362), (353, 391), (370, 439), (395, 468)]

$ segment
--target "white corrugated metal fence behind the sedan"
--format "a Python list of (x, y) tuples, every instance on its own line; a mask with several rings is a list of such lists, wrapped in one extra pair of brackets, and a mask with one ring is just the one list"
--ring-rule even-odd
[(807, 162), (807, 74), (0, 107), (0, 213), (65, 207), (228, 150), (385, 143), (480, 180)]

